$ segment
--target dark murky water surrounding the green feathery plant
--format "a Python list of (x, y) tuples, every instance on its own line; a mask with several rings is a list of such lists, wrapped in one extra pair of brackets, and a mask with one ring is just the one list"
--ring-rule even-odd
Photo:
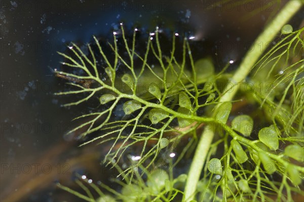
[(98, 164), (106, 147), (96, 157), (97, 149), (79, 149), (64, 138), (82, 109), (61, 108), (68, 100), (53, 95), (63, 90), (51, 71), (63, 59), (56, 51), (64, 52), (71, 41), (92, 42), (92, 35), (111, 40), (124, 22), (129, 30), (159, 26), (193, 36), (200, 44), (197, 58), (210, 55), (217, 68), (234, 60), (232, 70), (278, 7), (256, 13), (270, 1), (215, 8), (211, 2), (1, 1), (1, 201), (70, 199), (54, 182), (71, 184), (75, 171), (105, 175), (98, 174)]

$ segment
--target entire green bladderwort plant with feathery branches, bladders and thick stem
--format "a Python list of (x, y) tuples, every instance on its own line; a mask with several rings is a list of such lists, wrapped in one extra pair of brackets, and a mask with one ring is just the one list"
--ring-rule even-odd
[[(209, 58), (194, 61), (186, 38), (177, 50), (180, 38), (174, 34), (165, 53), (158, 27), (145, 51), (136, 49), (137, 30), (128, 40), (121, 24), (107, 44), (111, 55), (95, 37), (99, 55), (91, 45), (86, 54), (76, 44), (69, 47), (74, 56), (59, 53), (64, 65), (79, 71), (55, 71), (74, 87), (57, 95), (85, 95), (65, 106), (98, 100), (101, 108), (75, 118), (85, 122), (70, 133), (85, 128), (81, 146), (111, 143), (104, 163), (124, 181), (115, 180), (122, 188), (114, 190), (79, 177), (84, 193), (58, 186), (86, 201), (292, 201), (295, 193), (303, 195), (304, 28), (286, 25), (301, 6), (301, 1), (285, 5), (233, 75), (225, 72), (229, 64), (215, 73)], [(269, 45), (278, 35), (273, 47), (260, 50), (259, 43)], [(220, 89), (222, 83), (232, 85)], [(261, 83), (271, 85), (265, 90)], [(246, 84), (252, 90), (244, 90)], [(242, 98), (234, 99), (236, 93)], [(258, 119), (231, 115), (242, 99), (259, 106)], [(173, 161), (184, 137), (191, 140)], [(131, 163), (122, 168), (120, 160), (135, 145), (140, 153), (128, 155)], [(176, 163), (192, 149), (189, 171), (173, 176)], [(171, 151), (163, 162), (167, 171), (157, 166), (165, 150)]]

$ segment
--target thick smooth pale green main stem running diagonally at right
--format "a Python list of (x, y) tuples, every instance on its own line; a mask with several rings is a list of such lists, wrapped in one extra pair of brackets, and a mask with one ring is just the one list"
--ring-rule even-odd
[[(234, 95), (238, 90), (238, 88), (236, 88), (236, 85), (238, 85), (239, 82), (244, 81), (257, 59), (261, 56), (263, 51), (270, 44), (269, 42), (271, 42), (275, 38), (277, 32), (280, 31), (282, 26), (289, 21), (289, 19), (300, 9), (301, 6), (302, 2), (299, 0), (289, 1), (285, 5), (285, 7), (280, 11), (280, 13), (276, 16), (276, 18), (264, 29), (261, 35), (255, 40), (252, 47), (252, 51), (247, 52), (244, 60), (240, 64), (240, 67), (235, 72), (232, 78), (232, 87), (225, 88), (225, 90), (223, 91), (226, 93), (224, 93), (223, 96), (220, 98), (220, 103), (230, 102), (233, 99)], [(263, 46), (262, 50), (260, 50), (261, 44)], [(214, 132), (212, 126), (206, 125), (188, 172), (183, 201), (191, 201), (195, 198), (197, 183), (200, 179), (200, 175), (213, 137)]]

